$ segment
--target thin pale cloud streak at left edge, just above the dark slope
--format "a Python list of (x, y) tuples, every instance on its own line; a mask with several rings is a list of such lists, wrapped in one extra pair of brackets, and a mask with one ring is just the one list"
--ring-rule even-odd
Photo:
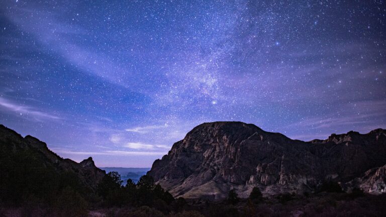
[(0, 97), (0, 105), (7, 111), (13, 112), (14, 115), (21, 116), (22, 118), (34, 119), (40, 121), (45, 120), (61, 120), (62, 118), (51, 115), (45, 112), (38, 111), (34, 107), (20, 105), (13, 101)]

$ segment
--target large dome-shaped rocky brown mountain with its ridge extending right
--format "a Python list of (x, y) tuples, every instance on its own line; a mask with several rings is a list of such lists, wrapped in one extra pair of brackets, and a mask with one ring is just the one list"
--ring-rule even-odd
[(382, 192), (384, 156), (382, 129), (304, 142), (252, 124), (214, 122), (195, 127), (174, 143), (148, 175), (173, 196), (210, 200), (225, 198), (230, 189), (247, 197), (255, 186), (265, 195), (312, 192), (329, 181), (367, 192), (364, 186), (376, 183), (370, 191)]

